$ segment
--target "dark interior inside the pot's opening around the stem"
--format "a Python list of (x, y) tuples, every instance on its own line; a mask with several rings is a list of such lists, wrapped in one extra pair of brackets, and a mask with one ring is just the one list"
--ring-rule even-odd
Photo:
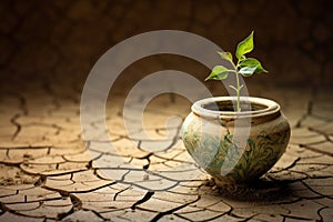
[[(204, 109), (212, 110), (212, 111), (231, 111), (231, 112), (234, 112), (234, 107), (235, 104), (233, 104), (232, 101), (216, 101), (203, 105)], [(263, 104), (251, 103), (250, 105), (248, 102), (241, 102), (241, 109), (243, 112), (263, 110), (266, 108), (268, 107)]]

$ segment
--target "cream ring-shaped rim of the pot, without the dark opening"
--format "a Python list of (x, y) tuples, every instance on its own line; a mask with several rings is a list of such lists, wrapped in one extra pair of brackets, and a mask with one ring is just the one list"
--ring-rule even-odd
[(256, 97), (241, 97), (241, 102), (250, 103), (250, 104), (259, 104), (265, 107), (264, 109), (254, 110), (254, 111), (215, 111), (205, 109), (204, 105), (215, 102), (222, 101), (236, 101), (236, 97), (212, 97), (199, 100), (194, 102), (191, 107), (193, 113), (199, 117), (209, 118), (209, 119), (243, 119), (243, 118), (256, 118), (273, 114), (280, 111), (280, 105), (273, 100), (256, 98)]

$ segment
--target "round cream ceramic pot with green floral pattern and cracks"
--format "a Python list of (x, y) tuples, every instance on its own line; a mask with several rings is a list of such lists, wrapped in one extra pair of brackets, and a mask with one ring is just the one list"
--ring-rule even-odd
[(252, 110), (223, 111), (232, 101), (235, 98), (200, 100), (182, 125), (188, 152), (218, 185), (259, 179), (281, 158), (290, 139), (287, 120), (274, 101), (241, 98)]

